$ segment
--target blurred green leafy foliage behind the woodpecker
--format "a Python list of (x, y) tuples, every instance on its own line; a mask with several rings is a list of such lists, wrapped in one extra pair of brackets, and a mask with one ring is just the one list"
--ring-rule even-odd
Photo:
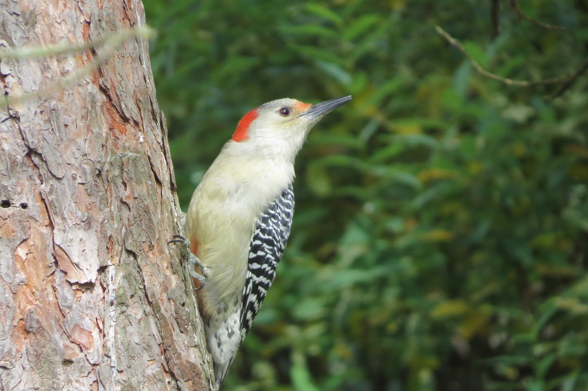
[(353, 95), (296, 161), (278, 276), (225, 389), (588, 389), (588, 3), (144, 0), (179, 196), (243, 114)]

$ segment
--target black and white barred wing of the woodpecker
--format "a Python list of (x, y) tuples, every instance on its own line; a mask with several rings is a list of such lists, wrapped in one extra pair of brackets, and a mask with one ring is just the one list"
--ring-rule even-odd
[(241, 341), (276, 277), (276, 266), (286, 247), (294, 213), (292, 184), (260, 215), (251, 237), (247, 279), (243, 290)]

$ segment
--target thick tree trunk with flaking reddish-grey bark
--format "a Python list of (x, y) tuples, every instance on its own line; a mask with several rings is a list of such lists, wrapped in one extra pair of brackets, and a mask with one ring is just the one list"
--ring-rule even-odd
[[(145, 26), (137, 0), (0, 0), (0, 47)], [(4, 59), (35, 93), (100, 49)], [(0, 389), (208, 390), (212, 371), (177, 247), (178, 199), (148, 42), (76, 83), (0, 107)]]

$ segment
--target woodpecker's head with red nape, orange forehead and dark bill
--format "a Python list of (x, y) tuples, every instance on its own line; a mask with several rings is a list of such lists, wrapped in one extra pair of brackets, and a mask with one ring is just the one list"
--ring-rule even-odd
[(351, 96), (311, 105), (296, 99), (272, 100), (245, 114), (229, 144), (293, 160), (313, 126)]

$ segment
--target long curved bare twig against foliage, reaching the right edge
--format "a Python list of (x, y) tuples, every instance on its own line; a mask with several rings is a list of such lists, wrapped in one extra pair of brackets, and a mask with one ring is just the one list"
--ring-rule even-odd
[[(473, 59), (472, 56), (469, 55), (469, 53), (467, 53), (466, 48), (463, 47), (461, 42), (457, 41), (457, 39), (453, 38), (451, 35), (449, 35), (448, 32), (446, 32), (445, 30), (443, 30), (439, 26), (435, 26), (435, 29), (437, 30), (437, 33), (439, 33), (439, 35), (441, 35), (443, 38), (446, 39), (447, 42), (450, 43), (450, 45), (455, 46), (457, 49), (459, 49), (460, 52), (462, 52), (467, 57), (467, 59), (470, 60), (470, 63), (472, 63), (472, 66), (477, 70), (477, 72), (479, 72), (483, 76), (488, 77), (489, 79), (493, 79), (493, 80), (497, 80), (499, 82), (502, 82), (507, 86), (533, 87), (533, 86), (541, 86), (541, 85), (545, 86), (545, 85), (555, 85), (555, 84), (564, 83), (565, 89), (563, 89), (561, 91), (561, 92), (563, 92), (564, 90), (569, 88), (572, 85), (572, 83), (574, 83), (576, 81), (576, 79), (578, 77), (580, 77), (580, 75), (582, 75), (588, 69), (588, 60), (586, 60), (586, 62), (584, 62), (584, 64), (578, 70), (576, 70), (575, 72), (569, 73), (566, 76), (552, 77), (551, 79), (543, 79), (543, 80), (509, 79), (507, 77), (495, 75), (494, 73), (488, 72), (486, 69), (482, 68), (482, 66), (475, 59)], [(557, 95), (557, 96), (559, 96), (559, 95)], [(554, 97), (556, 97), (556, 96), (554, 96)]]

